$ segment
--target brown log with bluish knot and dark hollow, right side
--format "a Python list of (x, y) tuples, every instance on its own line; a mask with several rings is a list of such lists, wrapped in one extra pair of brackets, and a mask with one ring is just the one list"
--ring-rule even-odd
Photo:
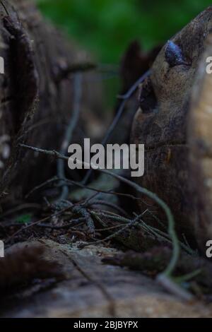
[[(179, 235), (186, 235), (193, 244), (196, 208), (192, 183), (196, 177), (189, 171), (187, 130), (192, 131), (193, 126), (188, 112), (194, 78), (211, 25), (212, 8), (209, 7), (172, 38), (181, 49), (178, 58), (176, 54), (170, 57), (168, 44), (163, 47), (150, 78), (141, 87), (140, 109), (131, 133), (132, 143), (146, 146), (146, 170), (139, 184), (163, 198), (175, 215)], [(200, 181), (196, 189), (201, 191), (202, 187)], [(161, 211), (158, 215), (161, 220), (165, 219)], [(196, 233), (196, 238), (205, 245), (205, 236)]]

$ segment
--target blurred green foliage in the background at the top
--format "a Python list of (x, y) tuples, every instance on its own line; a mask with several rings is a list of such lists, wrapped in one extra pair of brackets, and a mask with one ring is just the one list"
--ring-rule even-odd
[(99, 61), (118, 62), (131, 40), (149, 49), (180, 30), (209, 0), (37, 0), (48, 18), (63, 27)]

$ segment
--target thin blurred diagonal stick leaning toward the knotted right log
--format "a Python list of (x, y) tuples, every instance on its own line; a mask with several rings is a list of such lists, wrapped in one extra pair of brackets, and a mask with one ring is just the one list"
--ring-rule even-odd
[[(124, 97), (122, 97), (122, 102), (119, 106), (119, 109), (117, 111), (116, 116), (114, 117), (114, 120), (112, 121), (112, 124), (110, 125), (109, 129), (107, 130), (107, 134), (105, 136), (105, 138), (102, 141), (102, 146), (105, 146), (105, 144), (107, 143), (107, 141), (110, 139), (110, 136), (112, 135), (112, 132), (114, 131), (115, 127), (117, 126), (119, 119), (122, 117), (122, 114), (124, 112), (124, 107), (126, 104), (126, 100), (128, 100), (131, 95), (134, 94), (134, 92), (136, 91), (136, 89), (139, 87), (139, 85), (150, 75), (151, 71), (146, 71), (146, 73), (144, 73), (138, 81), (136, 81), (136, 83), (134, 83), (134, 85), (129, 89), (129, 91), (126, 93), (126, 95), (124, 95)], [(84, 177), (83, 179), (83, 184), (87, 184), (88, 180), (90, 179), (91, 174), (93, 173), (93, 170), (90, 169), (88, 171), (88, 173), (86, 174), (86, 177)]]

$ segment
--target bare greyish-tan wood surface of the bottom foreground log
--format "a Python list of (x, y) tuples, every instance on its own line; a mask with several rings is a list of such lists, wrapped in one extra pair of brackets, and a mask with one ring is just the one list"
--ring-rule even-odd
[[(59, 261), (66, 271), (66, 280), (37, 293), (35, 287), (25, 287), (13, 299), (14, 307), (7, 307), (4, 300), (1, 317), (211, 316), (210, 304), (182, 302), (141, 273), (102, 265), (102, 258), (118, 254), (114, 249), (96, 246), (79, 251), (75, 246), (41, 242), (46, 248), (45, 258)], [(40, 242), (19, 246), (35, 244)]]

